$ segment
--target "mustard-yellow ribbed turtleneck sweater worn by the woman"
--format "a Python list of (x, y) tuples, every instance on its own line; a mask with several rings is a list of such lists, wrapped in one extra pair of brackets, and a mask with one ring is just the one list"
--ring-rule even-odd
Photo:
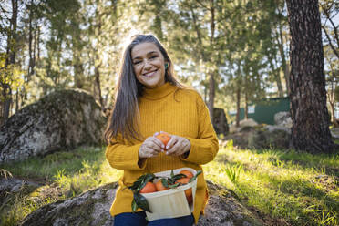
[[(155, 158), (147, 159), (139, 167), (141, 142), (113, 139), (106, 149), (106, 159), (111, 167), (124, 171), (118, 181), (119, 188), (110, 208), (113, 216), (132, 211), (133, 193), (124, 188), (131, 186), (142, 174), (183, 167), (202, 170), (200, 165), (214, 159), (219, 149), (208, 108), (195, 90), (175, 87), (170, 83), (157, 88), (147, 88), (139, 98), (139, 113), (139, 130), (144, 138), (159, 131), (178, 135), (190, 140), (190, 153), (186, 159), (160, 153)], [(198, 177), (193, 211), (196, 223), (206, 205), (207, 195), (206, 181), (201, 173)]]

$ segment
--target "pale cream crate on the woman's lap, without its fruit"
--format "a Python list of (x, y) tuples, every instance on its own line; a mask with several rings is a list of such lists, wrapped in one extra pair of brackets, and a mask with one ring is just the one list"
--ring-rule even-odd
[[(179, 174), (181, 170), (190, 170), (193, 175), (197, 174), (197, 171), (191, 168), (180, 168), (173, 170), (174, 174)], [(171, 170), (154, 173), (156, 176), (170, 177)], [(158, 179), (159, 180), (159, 179)], [(149, 210), (146, 211), (146, 215), (149, 221), (154, 221), (164, 218), (178, 218), (182, 216), (190, 215), (194, 210), (195, 192), (197, 190), (197, 180), (186, 185), (180, 185), (175, 189), (161, 190), (152, 193), (142, 193), (142, 195), (149, 202)], [(154, 180), (157, 182), (157, 180)], [(193, 200), (189, 204), (186, 200), (185, 190), (192, 188)]]

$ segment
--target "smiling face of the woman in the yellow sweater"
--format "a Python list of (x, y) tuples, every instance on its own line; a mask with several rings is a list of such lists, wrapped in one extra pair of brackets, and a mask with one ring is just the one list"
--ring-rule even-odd
[(153, 43), (140, 43), (131, 51), (134, 72), (138, 81), (146, 87), (165, 84), (165, 59)]

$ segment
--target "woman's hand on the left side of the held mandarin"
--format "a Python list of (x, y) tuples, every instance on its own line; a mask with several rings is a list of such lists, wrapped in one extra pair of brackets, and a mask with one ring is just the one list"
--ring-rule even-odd
[[(158, 133), (155, 133), (158, 134)], [(153, 135), (145, 139), (139, 148), (139, 159), (156, 157), (164, 149), (162, 142)]]

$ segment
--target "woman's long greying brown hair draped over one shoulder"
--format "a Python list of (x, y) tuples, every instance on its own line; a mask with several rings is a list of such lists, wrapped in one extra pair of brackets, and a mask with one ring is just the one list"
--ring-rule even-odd
[(159, 40), (152, 35), (134, 36), (131, 43), (126, 47), (116, 89), (116, 101), (113, 111), (108, 119), (108, 127), (105, 130), (105, 139), (110, 143), (110, 139), (117, 139), (121, 136), (123, 139), (141, 140), (139, 132), (139, 107), (138, 100), (142, 96), (144, 85), (142, 85), (135, 76), (131, 51), (134, 46), (141, 43), (153, 43), (164, 56), (168, 68), (165, 70), (165, 82), (170, 82), (177, 87), (183, 87), (173, 75), (173, 65), (166, 49), (160, 44)]

